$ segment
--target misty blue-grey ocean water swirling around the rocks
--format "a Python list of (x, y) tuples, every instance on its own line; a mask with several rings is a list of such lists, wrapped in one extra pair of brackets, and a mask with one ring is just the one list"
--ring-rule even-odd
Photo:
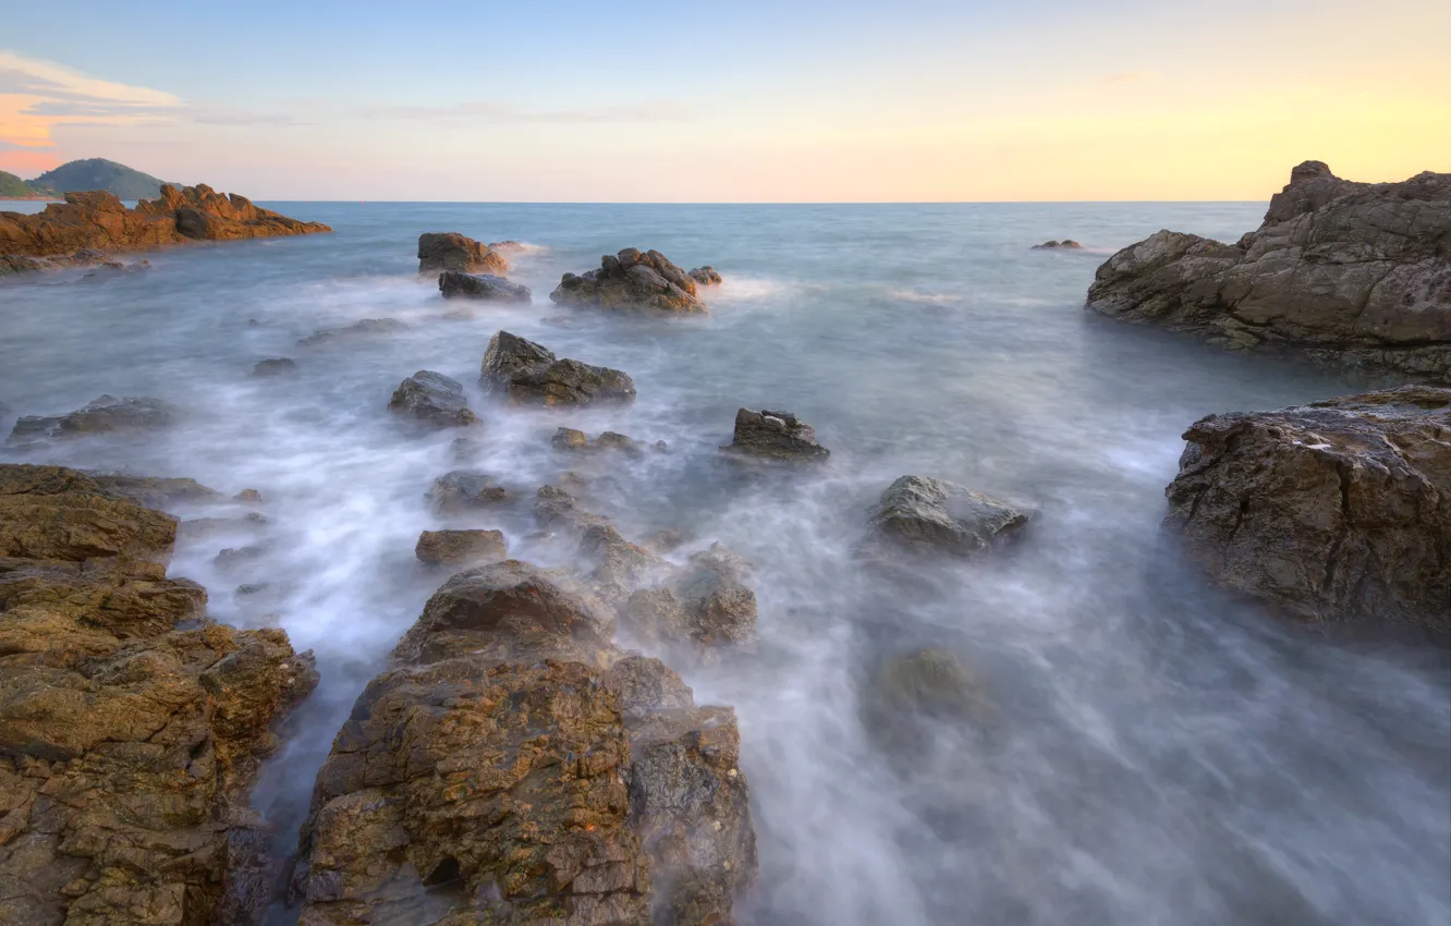
[[(273, 208), (337, 234), (0, 283), (0, 402), (13, 409), (0, 427), (103, 392), (187, 414), (145, 440), (0, 456), (263, 493), (264, 528), (184, 536), (173, 575), (203, 582), (218, 620), (280, 624), (318, 656), (322, 687), (255, 791), (279, 848), (296, 842), (353, 698), (441, 581), (414, 559), (418, 533), (445, 524), (424, 502), (431, 480), (464, 466), (528, 496), (572, 467), (548, 444), (569, 425), (670, 444), (592, 488), (591, 507), (627, 537), (675, 528), (691, 537), (676, 557), (720, 540), (756, 568), (760, 650), (685, 673), (699, 702), (740, 717), (762, 866), (743, 923), (1451, 920), (1445, 656), (1283, 624), (1213, 591), (1158, 531), (1196, 418), (1365, 383), (1081, 308), (1113, 250), (1159, 228), (1235, 239), (1262, 205)], [(528, 242), (511, 277), (533, 303), (454, 316), (415, 273), (424, 231)], [(1064, 237), (1088, 248), (1029, 250)], [(560, 273), (624, 247), (714, 264), (727, 282), (707, 295), (710, 318), (548, 302)], [(408, 328), (296, 345), (364, 318)], [(638, 401), (489, 405), (477, 366), (499, 329), (627, 370)], [(252, 379), (267, 357), (300, 372)], [(386, 414), (421, 369), (470, 390), (485, 419), (473, 459), (453, 459), (456, 433), (421, 437)], [(739, 406), (797, 412), (830, 464), (723, 460)], [(923, 569), (904, 592), (853, 550), (871, 504), (907, 473), (1039, 517), (1010, 554)], [(521, 559), (570, 562), (525, 518), (448, 525), (499, 527)], [(248, 543), (264, 553), (213, 562)], [(884, 742), (866, 723), (874, 685), (885, 660), (923, 646), (963, 662), (987, 716)]]

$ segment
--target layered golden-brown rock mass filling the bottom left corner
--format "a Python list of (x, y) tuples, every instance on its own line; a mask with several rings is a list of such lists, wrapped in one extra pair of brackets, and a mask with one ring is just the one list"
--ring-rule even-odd
[(247, 791), (316, 672), (281, 630), (202, 618), (165, 578), (176, 530), (0, 466), (0, 922), (247, 923), (273, 894)]

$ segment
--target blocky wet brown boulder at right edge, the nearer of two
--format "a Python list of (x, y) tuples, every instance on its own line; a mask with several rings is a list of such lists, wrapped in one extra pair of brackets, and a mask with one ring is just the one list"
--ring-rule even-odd
[(1210, 415), (1184, 440), (1165, 525), (1212, 579), (1451, 644), (1451, 389)]

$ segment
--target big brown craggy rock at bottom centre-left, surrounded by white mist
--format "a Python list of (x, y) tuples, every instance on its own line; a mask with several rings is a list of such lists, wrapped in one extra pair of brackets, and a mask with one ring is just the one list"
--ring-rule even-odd
[(299, 922), (734, 922), (756, 871), (734, 716), (611, 630), (527, 563), (445, 582), (318, 775)]

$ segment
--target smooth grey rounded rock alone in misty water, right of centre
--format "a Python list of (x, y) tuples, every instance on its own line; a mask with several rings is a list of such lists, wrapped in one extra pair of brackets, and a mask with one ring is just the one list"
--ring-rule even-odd
[(1033, 512), (945, 479), (903, 476), (882, 492), (872, 531), (882, 546), (971, 557), (1013, 540)]

